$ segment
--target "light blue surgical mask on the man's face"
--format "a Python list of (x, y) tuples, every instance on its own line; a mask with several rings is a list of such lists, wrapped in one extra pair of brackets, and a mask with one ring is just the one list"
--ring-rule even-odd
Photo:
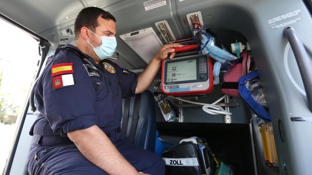
[[(88, 29), (89, 30), (89, 29)], [(90, 31), (90, 30), (89, 30)], [(90, 31), (93, 33), (93, 31)], [(102, 41), (102, 44), (98, 47), (93, 47), (93, 45), (90, 44), (90, 42), (87, 40), (87, 42), (93, 47), (93, 50), (95, 54), (100, 59), (106, 59), (111, 57), (115, 53), (115, 49), (117, 46), (117, 41), (115, 37), (112, 36), (98, 36), (95, 33), (93, 33), (95, 36), (99, 37)]]

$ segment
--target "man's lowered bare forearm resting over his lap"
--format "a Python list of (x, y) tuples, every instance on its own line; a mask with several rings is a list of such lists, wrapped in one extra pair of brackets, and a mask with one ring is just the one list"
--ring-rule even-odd
[(138, 174), (97, 125), (84, 130), (76, 130), (67, 135), (90, 162), (106, 173), (111, 175)]

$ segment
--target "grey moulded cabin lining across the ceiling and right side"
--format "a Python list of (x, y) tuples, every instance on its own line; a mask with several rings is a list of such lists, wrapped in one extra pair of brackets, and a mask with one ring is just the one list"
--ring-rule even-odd
[[(85, 1), (5, 1), (0, 7), (1, 14), (25, 26), (31, 31), (41, 35), (52, 44), (49, 54), (53, 54), (56, 47), (63, 45), (62, 30), (71, 28), (73, 31), (74, 19), (81, 8), (97, 5), (110, 11), (116, 18), (118, 34), (125, 34), (147, 27), (152, 27), (160, 35), (155, 22), (167, 20), (175, 37), (184, 39), (192, 34), (186, 15), (200, 11), (205, 26), (210, 27), (224, 42), (231, 43), (225, 32), (236, 31), (246, 37), (259, 70), (261, 81), (268, 104), (271, 109), (272, 124), (275, 134), (278, 158), (284, 163), (289, 174), (308, 174), (312, 161), (310, 145), (312, 140), (306, 139), (310, 131), (311, 122), (292, 122), (292, 116), (311, 116), (304, 93), (298, 90), (284, 67), (285, 59), (294, 61), (294, 55), (287, 45), (288, 41), (283, 35), (283, 27), (272, 29), (268, 20), (287, 12), (300, 9), (300, 21), (291, 24), (311, 57), (312, 19), (304, 2), (295, 0), (166, 0), (167, 5), (149, 11), (144, 10), (145, 0), (85, 0)], [(56, 10), (58, 9), (58, 10)], [(66, 19), (68, 17), (68, 19)], [(207, 18), (208, 21), (205, 20)], [(212, 20), (209, 20), (212, 19)], [(206, 21), (206, 22), (205, 22)], [(67, 43), (73, 44), (74, 35), (68, 36)], [(117, 64), (129, 69), (141, 69), (146, 63), (117, 37), (117, 50), (122, 59)], [(163, 44), (164, 41), (162, 40)], [(288, 50), (287, 50), (288, 47)], [(48, 55), (49, 56), (49, 55)], [(302, 89), (298, 66), (289, 61), (290, 74)], [(241, 111), (246, 111), (243, 109)], [(201, 119), (198, 119), (201, 121)], [(197, 122), (198, 122), (197, 121)], [(245, 119), (244, 119), (245, 121)], [(279, 121), (283, 122), (285, 140), (279, 135)], [(298, 144), (300, 143), (300, 144)], [(303, 144), (305, 143), (305, 144)], [(294, 148), (300, 151), (292, 151)], [(282, 165), (282, 164), (281, 164)], [(285, 167), (285, 165), (287, 165)], [(302, 168), (306, 167), (306, 168)]]

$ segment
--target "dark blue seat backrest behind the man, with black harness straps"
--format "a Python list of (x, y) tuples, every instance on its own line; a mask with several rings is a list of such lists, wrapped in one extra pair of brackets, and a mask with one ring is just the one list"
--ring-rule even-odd
[[(127, 127), (126, 140), (129, 139), (130, 128), (132, 124), (132, 116), (134, 109), (135, 97), (131, 97), (130, 106), (129, 106), (129, 121)], [(124, 102), (123, 99), (123, 111), (124, 111)], [(124, 119), (124, 117), (123, 117)], [(123, 122), (121, 122), (123, 123)], [(156, 140), (156, 112), (155, 112), (155, 103), (154, 96), (150, 91), (144, 91), (141, 94), (140, 103), (139, 103), (139, 113), (137, 124), (135, 127), (134, 133), (134, 145), (147, 149), (151, 152), (155, 151), (155, 140)]]

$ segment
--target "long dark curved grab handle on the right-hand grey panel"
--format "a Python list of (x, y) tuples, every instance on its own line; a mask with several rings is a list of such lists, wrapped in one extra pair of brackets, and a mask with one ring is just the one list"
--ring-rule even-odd
[(291, 49), (295, 54), (295, 58), (300, 70), (305, 93), (307, 94), (308, 107), (312, 112), (312, 63), (308, 57), (304, 45), (302, 44), (297, 32), (291, 28), (286, 27), (284, 33), (290, 43)]

